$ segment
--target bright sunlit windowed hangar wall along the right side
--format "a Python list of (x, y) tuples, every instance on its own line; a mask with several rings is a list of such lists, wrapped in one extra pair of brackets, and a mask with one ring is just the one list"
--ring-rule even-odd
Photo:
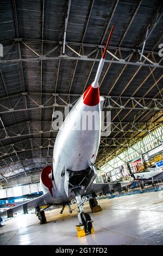
[[(162, 126), (154, 129), (143, 138), (128, 148), (116, 157), (106, 162), (100, 169), (101, 173), (108, 173), (111, 177), (111, 181), (115, 181), (122, 177), (120, 167), (126, 164), (127, 168), (130, 167), (134, 172), (131, 162), (138, 159), (142, 159), (142, 163), (153, 160), (157, 155), (163, 153), (163, 129)], [(115, 173), (116, 169), (116, 173)], [(118, 171), (119, 170), (119, 171)]]

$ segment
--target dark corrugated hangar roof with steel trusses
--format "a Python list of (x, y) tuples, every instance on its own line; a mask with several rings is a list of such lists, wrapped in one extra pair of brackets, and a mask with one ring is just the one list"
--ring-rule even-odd
[(99, 81), (111, 133), (97, 166), (162, 121), (161, 1), (1, 0), (0, 13), (1, 180), (52, 164), (53, 109), (72, 106), (93, 81), (112, 25)]

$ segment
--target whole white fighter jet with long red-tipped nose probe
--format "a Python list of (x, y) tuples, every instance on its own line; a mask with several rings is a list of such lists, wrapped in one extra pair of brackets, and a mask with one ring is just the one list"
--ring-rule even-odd
[[(113, 28), (112, 26), (95, 80), (73, 106), (60, 127), (54, 145), (53, 168), (46, 166), (42, 169), (40, 183), (43, 196), (7, 210), (8, 216), (12, 216), (13, 212), (22, 207), (24, 212), (27, 212), (27, 208), (35, 208), (36, 215), (43, 224), (46, 223), (46, 217), (45, 212), (40, 210), (41, 205), (46, 205), (46, 207), (63, 205), (62, 211), (65, 205), (68, 205), (68, 209), (72, 212), (70, 203), (77, 203), (79, 224), (84, 225), (86, 233), (91, 233), (91, 217), (84, 212), (83, 208), (87, 200), (86, 196), (90, 194), (93, 196), (90, 200), (92, 209), (97, 206), (96, 193), (109, 193), (111, 190), (117, 191), (121, 188), (121, 184), (117, 183), (96, 184), (93, 182), (97, 176), (94, 163), (101, 138), (101, 107), (104, 101), (104, 98), (99, 96), (98, 81)], [(84, 112), (96, 112), (97, 114), (97, 118), (92, 119), (92, 129), (88, 129), (89, 124), (86, 125), (86, 129), (74, 129), (74, 127), (83, 125)], [(1, 213), (0, 216), (6, 212)]]

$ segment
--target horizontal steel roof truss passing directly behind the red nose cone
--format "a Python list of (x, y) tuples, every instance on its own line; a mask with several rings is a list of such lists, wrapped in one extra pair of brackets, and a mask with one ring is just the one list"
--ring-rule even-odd
[[(20, 102), (24, 102), (24, 97), (27, 100), (27, 106), (20, 105)], [(42, 96), (42, 103), (40, 104), (40, 96)], [(46, 96), (44, 100), (43, 96)], [(66, 102), (67, 96), (71, 97), (69, 103)], [(32, 109), (43, 109), (43, 108), (53, 108), (53, 107), (73, 107), (74, 103), (78, 100), (81, 95), (79, 94), (56, 94), (56, 93), (27, 93), (23, 92), (20, 94), (10, 95), (7, 97), (0, 98), (0, 114), (13, 113), (20, 111), (27, 111)], [(8, 105), (8, 100), (15, 97), (15, 106), (6, 107)], [(48, 97), (48, 99), (47, 99)], [(65, 99), (66, 97), (66, 99)], [(146, 98), (146, 97), (124, 97), (124, 96), (108, 96), (105, 95), (105, 105), (103, 109), (135, 109), (141, 111), (160, 111), (163, 110), (163, 99), (160, 98)], [(50, 103), (54, 102), (54, 103)], [(30, 103), (33, 104), (29, 107)]]

